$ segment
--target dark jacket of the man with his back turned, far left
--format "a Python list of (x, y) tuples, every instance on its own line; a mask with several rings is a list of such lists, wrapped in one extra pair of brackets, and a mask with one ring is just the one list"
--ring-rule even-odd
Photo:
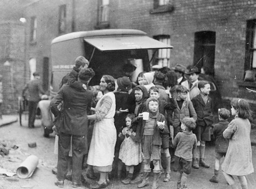
[(41, 100), (40, 93), (45, 94), (40, 79), (33, 79), (29, 81), (23, 89), (22, 96), (25, 95), (26, 90), (28, 90), (27, 99), (32, 102), (39, 102)]

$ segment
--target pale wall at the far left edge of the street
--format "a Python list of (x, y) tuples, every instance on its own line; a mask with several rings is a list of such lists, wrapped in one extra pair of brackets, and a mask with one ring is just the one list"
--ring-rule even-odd
[(24, 81), (24, 27), (18, 21), (0, 23), (0, 74), (3, 82), (3, 113), (17, 112)]

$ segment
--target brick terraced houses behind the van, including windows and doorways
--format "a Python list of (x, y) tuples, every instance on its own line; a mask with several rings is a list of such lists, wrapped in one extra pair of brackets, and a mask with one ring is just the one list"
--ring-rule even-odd
[[(25, 81), (29, 61), (51, 76), (50, 43), (69, 32), (93, 29), (140, 29), (171, 44), (159, 50), (153, 64), (174, 67), (196, 64), (209, 68), (223, 99), (244, 98), (255, 104), (256, 2), (254, 0), (34, 0), (26, 17)], [(244, 81), (245, 71), (250, 70)]]

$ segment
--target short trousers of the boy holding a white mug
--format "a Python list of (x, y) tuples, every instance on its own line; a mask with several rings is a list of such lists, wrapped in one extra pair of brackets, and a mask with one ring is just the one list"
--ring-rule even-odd
[(153, 135), (143, 135), (142, 152), (145, 160), (160, 160), (160, 145), (153, 144)]

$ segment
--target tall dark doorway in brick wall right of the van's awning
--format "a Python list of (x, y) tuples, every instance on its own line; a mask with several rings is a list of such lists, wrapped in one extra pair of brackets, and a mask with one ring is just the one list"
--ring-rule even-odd
[(195, 32), (194, 65), (201, 70), (204, 67), (207, 74), (214, 76), (215, 32)]

